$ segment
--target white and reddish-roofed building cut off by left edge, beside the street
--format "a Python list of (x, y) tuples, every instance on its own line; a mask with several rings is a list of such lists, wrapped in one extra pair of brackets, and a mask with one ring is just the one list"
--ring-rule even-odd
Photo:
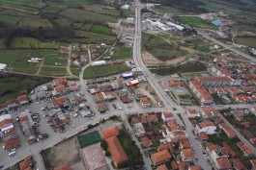
[(14, 123), (11, 114), (3, 114), (0, 116), (0, 131), (2, 134), (14, 132)]

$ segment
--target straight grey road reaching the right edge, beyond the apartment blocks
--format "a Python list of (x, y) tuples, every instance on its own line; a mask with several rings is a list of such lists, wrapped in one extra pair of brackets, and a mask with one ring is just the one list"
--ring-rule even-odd
[(249, 56), (249, 55), (247, 55), (245, 53), (242, 53), (242, 51), (240, 51), (240, 50), (238, 50), (236, 48), (230, 47), (227, 44), (225, 44), (225, 43), (223, 43), (223, 42), (221, 42), (221, 41), (219, 41), (217, 39), (214, 39), (212, 36), (208, 36), (206, 33), (203, 33), (203, 32), (201, 32), (199, 30), (197, 30), (197, 33), (199, 35), (201, 35), (201, 36), (204, 36), (204, 37), (206, 37), (208, 39), (211, 39), (216, 44), (218, 44), (218, 45), (220, 45), (220, 46), (222, 46), (222, 47), (224, 47), (224, 48), (226, 48), (226, 49), (228, 49), (230, 51), (233, 51), (234, 53), (237, 53), (238, 55), (242, 56), (243, 58), (246, 58), (246, 59), (248, 59), (250, 61), (256, 61), (256, 58), (253, 58), (253, 57), (251, 57), (251, 56)]

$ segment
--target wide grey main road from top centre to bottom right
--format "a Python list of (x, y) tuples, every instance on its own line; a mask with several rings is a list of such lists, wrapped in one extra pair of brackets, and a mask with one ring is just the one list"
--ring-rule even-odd
[[(195, 135), (192, 134), (191, 130), (193, 127), (191, 126), (188, 119), (185, 118), (185, 109), (181, 106), (178, 106), (174, 101), (171, 100), (170, 97), (166, 94), (164, 89), (160, 84), (158, 84), (157, 79), (154, 75), (149, 71), (149, 69), (144, 64), (142, 57), (141, 57), (141, 7), (139, 1), (135, 1), (136, 10), (135, 10), (135, 36), (134, 36), (134, 43), (133, 43), (133, 61), (135, 64), (143, 70), (143, 74), (145, 75), (146, 79), (155, 89), (156, 94), (158, 97), (163, 101), (165, 107), (168, 110), (172, 110), (175, 113), (181, 113), (181, 116), (185, 123), (186, 134), (188, 135), (188, 139), (192, 144), (193, 150), (195, 152), (196, 158), (198, 158), (197, 163), (205, 170), (212, 169), (212, 166), (208, 163), (206, 158), (203, 155), (203, 150), (198, 146), (198, 141), (195, 139)], [(174, 111), (173, 108), (176, 108)], [(182, 120), (179, 118), (177, 114), (175, 115), (175, 119), (181, 125), (183, 124)]]

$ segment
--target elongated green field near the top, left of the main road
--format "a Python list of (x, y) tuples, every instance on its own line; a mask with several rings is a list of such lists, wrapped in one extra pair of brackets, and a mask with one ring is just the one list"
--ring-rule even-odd
[(94, 22), (116, 22), (116, 17), (106, 15), (106, 14), (100, 14), (96, 12), (87, 12), (79, 9), (67, 9), (63, 12), (60, 12), (59, 14), (69, 17), (73, 20), (84, 22), (84, 21), (94, 21)]

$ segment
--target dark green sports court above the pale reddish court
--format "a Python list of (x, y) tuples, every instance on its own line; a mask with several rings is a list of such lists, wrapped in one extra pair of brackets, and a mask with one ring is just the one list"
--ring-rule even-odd
[(76, 136), (76, 138), (80, 145), (80, 148), (84, 148), (86, 146), (95, 144), (97, 142), (100, 142), (100, 140), (101, 140), (99, 131), (94, 131), (94, 132), (88, 133), (88, 134), (81, 134), (81, 135)]

